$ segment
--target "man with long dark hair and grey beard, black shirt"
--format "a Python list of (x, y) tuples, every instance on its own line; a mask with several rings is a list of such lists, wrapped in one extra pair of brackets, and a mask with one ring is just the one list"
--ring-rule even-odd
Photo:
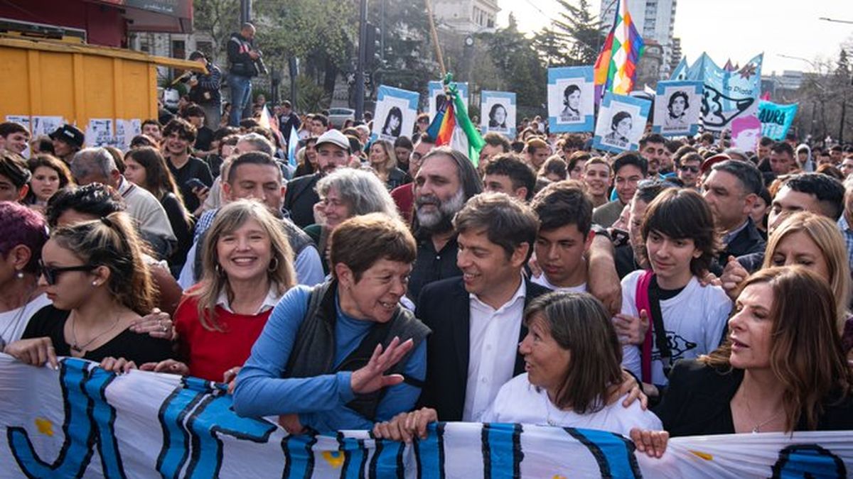
[(409, 278), (409, 299), (432, 281), (461, 276), (456, 266), (453, 216), (468, 199), (483, 191), (477, 170), (467, 157), (450, 147), (438, 147), (421, 159), (415, 176), (415, 218), (418, 257)]

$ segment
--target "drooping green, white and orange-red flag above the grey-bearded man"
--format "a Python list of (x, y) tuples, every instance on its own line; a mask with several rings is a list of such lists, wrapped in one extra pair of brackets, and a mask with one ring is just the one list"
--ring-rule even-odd
[(459, 96), (456, 84), (451, 84), (453, 77), (448, 73), (444, 78), (447, 87), (447, 95), (450, 101), (444, 101), (432, 123), (427, 128), (427, 134), (435, 138), (435, 146), (450, 146), (453, 149), (466, 153), (468, 159), (476, 166), (479, 164), (479, 152), (483, 149), (485, 141), (480, 136), (477, 127), (471, 123), (465, 110), (465, 103)]

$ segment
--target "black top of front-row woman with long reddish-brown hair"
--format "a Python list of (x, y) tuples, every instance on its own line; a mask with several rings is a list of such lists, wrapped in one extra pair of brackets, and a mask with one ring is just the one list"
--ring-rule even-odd
[[(670, 372), (666, 394), (654, 413), (671, 436), (734, 434), (730, 403), (743, 377), (740, 369), (722, 372), (699, 361), (678, 361)], [(801, 416), (796, 430), (806, 429)], [(817, 430), (850, 429), (853, 429), (853, 398), (848, 396), (838, 404), (824, 405)]]

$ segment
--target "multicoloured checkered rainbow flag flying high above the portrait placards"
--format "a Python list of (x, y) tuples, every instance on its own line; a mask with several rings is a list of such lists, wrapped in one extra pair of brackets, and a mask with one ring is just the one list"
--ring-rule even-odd
[(634, 89), (642, 51), (643, 41), (628, 11), (628, 0), (618, 0), (613, 27), (595, 61), (596, 102), (601, 101), (606, 91), (628, 95)]

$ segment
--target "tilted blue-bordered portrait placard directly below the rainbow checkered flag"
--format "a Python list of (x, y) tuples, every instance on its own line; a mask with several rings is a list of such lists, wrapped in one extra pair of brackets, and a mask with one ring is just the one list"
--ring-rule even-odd
[(592, 147), (613, 153), (640, 149), (652, 102), (626, 95), (604, 94)]

